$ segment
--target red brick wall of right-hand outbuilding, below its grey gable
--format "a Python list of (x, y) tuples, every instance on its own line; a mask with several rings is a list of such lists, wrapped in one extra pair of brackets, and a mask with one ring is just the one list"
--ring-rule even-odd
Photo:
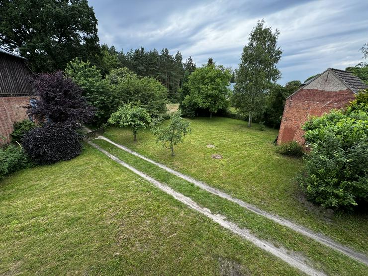
[(286, 99), (282, 114), (277, 144), (297, 141), (304, 144), (304, 131), (301, 126), (310, 116), (321, 116), (331, 109), (346, 107), (355, 95), (350, 90), (324, 91), (301, 89)]

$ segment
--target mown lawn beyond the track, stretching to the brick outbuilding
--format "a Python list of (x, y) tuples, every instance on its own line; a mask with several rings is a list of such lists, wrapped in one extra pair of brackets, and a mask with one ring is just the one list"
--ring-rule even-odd
[[(276, 153), (273, 142), (277, 130), (260, 131), (257, 124), (247, 128), (244, 121), (221, 117), (190, 122), (192, 133), (176, 147), (174, 157), (155, 143), (149, 129), (138, 133), (136, 143), (128, 128), (110, 127), (104, 136), (261, 209), (368, 253), (368, 215), (331, 215), (308, 202), (293, 181), (302, 168), (302, 159)], [(207, 144), (216, 147), (207, 148)], [(214, 160), (210, 157), (214, 153), (224, 158)]]

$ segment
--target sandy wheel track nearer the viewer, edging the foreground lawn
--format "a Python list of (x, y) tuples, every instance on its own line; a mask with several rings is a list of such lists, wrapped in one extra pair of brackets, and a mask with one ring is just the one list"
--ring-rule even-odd
[(313, 275), (313, 276), (325, 275), (322, 272), (319, 272), (319, 271), (313, 269), (312, 267), (306, 265), (305, 261), (301, 260), (300, 257), (295, 258), (291, 254), (287, 253), (286, 250), (283, 250), (281, 248), (276, 248), (272, 244), (251, 235), (246, 229), (239, 228), (236, 224), (227, 221), (223, 216), (220, 216), (218, 214), (213, 214), (210, 210), (208, 210), (207, 208), (203, 208), (203, 207), (199, 206), (197, 203), (195, 203), (192, 199), (185, 196), (184, 194), (182, 194), (180, 192), (177, 192), (177, 191), (173, 190), (171, 187), (169, 187), (165, 184), (162, 184), (162, 183), (158, 182), (157, 180), (147, 176), (146, 174), (138, 171), (137, 169), (135, 169), (132, 166), (126, 164), (123, 161), (121, 161), (120, 159), (118, 159), (117, 157), (115, 157), (112, 154), (108, 153), (107, 151), (103, 150), (102, 148), (100, 148), (96, 144), (92, 143), (91, 141), (88, 142), (88, 143), (90, 145), (92, 145), (93, 147), (95, 147), (96, 149), (98, 149), (99, 151), (101, 151), (102, 153), (104, 153), (105, 155), (107, 155), (109, 158), (111, 158), (112, 160), (114, 160), (118, 164), (120, 164), (121, 166), (131, 170), (132, 172), (134, 172), (138, 176), (142, 177), (143, 179), (147, 180), (151, 184), (154, 184), (159, 189), (161, 189), (164, 192), (172, 195), (175, 199), (181, 201), (182, 203), (184, 203), (188, 207), (200, 212), (201, 214), (205, 215), (206, 217), (212, 219), (214, 222), (220, 224), (222, 227), (224, 227), (224, 228), (230, 230), (231, 232), (241, 236), (242, 238), (252, 242), (257, 247), (259, 247), (259, 248), (275, 255), (276, 257), (280, 258), (282, 261), (286, 262), (290, 266), (306, 273), (307, 275)]

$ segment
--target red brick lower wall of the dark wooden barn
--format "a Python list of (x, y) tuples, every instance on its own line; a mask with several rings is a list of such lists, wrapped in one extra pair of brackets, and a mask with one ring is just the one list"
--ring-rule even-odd
[[(28, 118), (26, 106), (29, 104), (30, 96), (23, 97), (0, 97), (0, 135), (9, 142), (9, 135), (13, 132), (13, 123)], [(0, 141), (4, 143), (4, 141)]]

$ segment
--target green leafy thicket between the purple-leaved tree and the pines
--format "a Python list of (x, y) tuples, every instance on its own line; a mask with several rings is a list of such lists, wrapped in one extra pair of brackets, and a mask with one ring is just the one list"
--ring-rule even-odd
[(151, 77), (142, 78), (127, 68), (119, 68), (102, 78), (95, 66), (78, 59), (71, 61), (65, 72), (96, 107), (94, 122), (97, 124), (105, 123), (122, 103), (138, 104), (152, 116), (166, 112), (167, 88)]

